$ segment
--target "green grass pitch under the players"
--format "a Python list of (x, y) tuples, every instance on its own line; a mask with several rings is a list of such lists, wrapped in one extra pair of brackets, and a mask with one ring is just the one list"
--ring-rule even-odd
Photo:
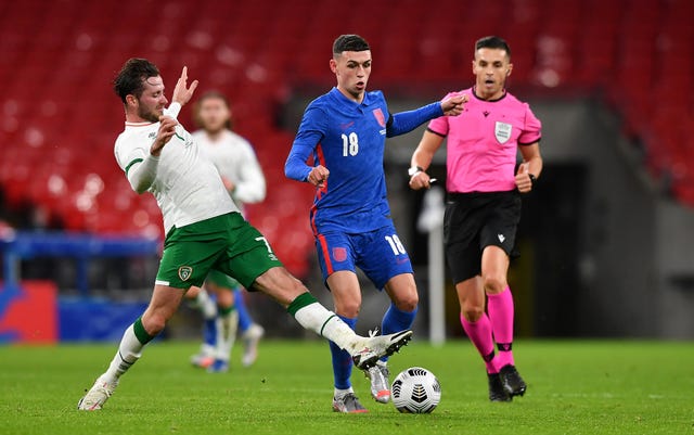
[(192, 342), (158, 342), (121, 379), (98, 412), (77, 401), (116, 345), (0, 347), (0, 433), (11, 434), (694, 434), (694, 344), (643, 341), (518, 341), (528, 383), (511, 404), (487, 399), (472, 345), (415, 340), (391, 358), (391, 378), (422, 366), (441, 383), (432, 414), (400, 414), (369, 396), (370, 412), (331, 409), (327, 346), (318, 340), (265, 341), (259, 359), (207, 374), (188, 364)]

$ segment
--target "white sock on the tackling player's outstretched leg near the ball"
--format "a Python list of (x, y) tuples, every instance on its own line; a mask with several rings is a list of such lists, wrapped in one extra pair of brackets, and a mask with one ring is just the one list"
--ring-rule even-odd
[(357, 335), (337, 315), (318, 302), (297, 310), (294, 318), (301, 327), (324, 336), (350, 354), (365, 345), (367, 338)]

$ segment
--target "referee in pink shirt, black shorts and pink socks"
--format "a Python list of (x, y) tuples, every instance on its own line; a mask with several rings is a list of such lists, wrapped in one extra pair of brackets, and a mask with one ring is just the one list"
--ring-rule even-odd
[[(479, 39), (472, 66), (475, 86), (447, 95), (470, 95), (464, 113), (429, 123), (412, 155), (410, 187), (429, 188), (426, 169), (447, 138), (444, 231), (460, 321), (485, 360), (489, 399), (509, 401), (522, 396), (526, 384), (513, 358), (514, 306), (506, 276), (520, 220), (519, 194), (532, 190), (542, 171), (541, 124), (528, 104), (506, 92), (513, 64), (503, 39)], [(516, 170), (518, 150), (523, 163)]]

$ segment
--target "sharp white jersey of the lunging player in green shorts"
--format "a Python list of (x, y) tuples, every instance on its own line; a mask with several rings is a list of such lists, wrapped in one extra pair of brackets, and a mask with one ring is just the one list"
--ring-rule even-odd
[[(171, 104), (165, 115), (177, 117), (179, 104)], [(115, 144), (116, 161), (128, 175), (150, 154), (159, 123), (126, 123)], [(162, 150), (156, 176), (147, 189), (162, 209), (165, 233), (230, 212), (240, 212), (231, 201), (219, 172), (180, 124), (176, 135)]]

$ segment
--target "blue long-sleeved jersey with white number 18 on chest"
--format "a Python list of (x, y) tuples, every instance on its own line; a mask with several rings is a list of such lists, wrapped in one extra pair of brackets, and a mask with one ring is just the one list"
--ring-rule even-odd
[(357, 103), (337, 88), (313, 100), (301, 119), (285, 165), (287, 177), (306, 181), (316, 165), (330, 170), (311, 207), (314, 234), (361, 233), (391, 225), (383, 154), (386, 136), (401, 135), (442, 115), (440, 104), (390, 115), (381, 91)]

